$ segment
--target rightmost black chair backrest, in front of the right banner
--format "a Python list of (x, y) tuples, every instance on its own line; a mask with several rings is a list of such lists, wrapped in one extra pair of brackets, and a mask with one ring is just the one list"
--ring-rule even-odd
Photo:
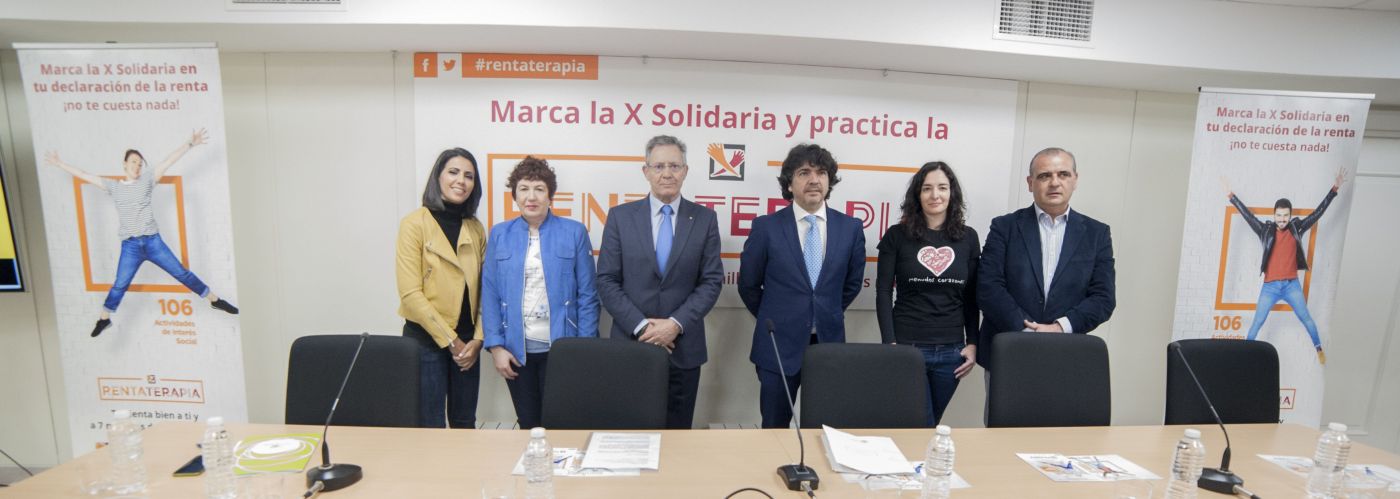
[[(1180, 346), (1180, 355), (1172, 348)], [(1166, 425), (1215, 423), (1182, 356), (1225, 423), (1278, 422), (1278, 350), (1239, 339), (1182, 339), (1166, 349)]]

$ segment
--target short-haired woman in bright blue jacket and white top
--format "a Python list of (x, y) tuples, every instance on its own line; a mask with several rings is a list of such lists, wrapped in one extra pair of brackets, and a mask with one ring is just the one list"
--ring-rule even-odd
[(521, 216), (491, 227), (482, 266), (482, 329), (521, 428), (540, 425), (549, 346), (598, 336), (594, 245), (584, 224), (549, 212), (559, 184), (526, 157), (505, 184)]

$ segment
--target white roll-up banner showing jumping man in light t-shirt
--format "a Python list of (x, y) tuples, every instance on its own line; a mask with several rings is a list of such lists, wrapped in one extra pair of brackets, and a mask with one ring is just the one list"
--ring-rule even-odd
[(15, 48), (74, 454), (106, 440), (116, 409), (246, 421), (238, 315), (211, 306), (238, 304), (218, 52)]

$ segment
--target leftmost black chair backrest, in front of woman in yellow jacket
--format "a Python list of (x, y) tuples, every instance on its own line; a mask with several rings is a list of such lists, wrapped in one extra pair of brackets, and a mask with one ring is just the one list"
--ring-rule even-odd
[[(360, 335), (311, 335), (291, 343), (287, 362), (288, 425), (325, 425)], [(346, 383), (336, 426), (419, 425), (419, 345), (405, 336), (370, 335)]]

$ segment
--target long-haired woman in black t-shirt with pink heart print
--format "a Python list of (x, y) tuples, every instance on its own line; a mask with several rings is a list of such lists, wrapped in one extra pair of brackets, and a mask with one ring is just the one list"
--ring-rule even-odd
[(934, 426), (977, 359), (981, 244), (966, 226), (962, 186), (946, 163), (918, 168), (900, 210), (899, 224), (879, 241), (875, 310), (882, 342), (924, 353), (928, 426)]

